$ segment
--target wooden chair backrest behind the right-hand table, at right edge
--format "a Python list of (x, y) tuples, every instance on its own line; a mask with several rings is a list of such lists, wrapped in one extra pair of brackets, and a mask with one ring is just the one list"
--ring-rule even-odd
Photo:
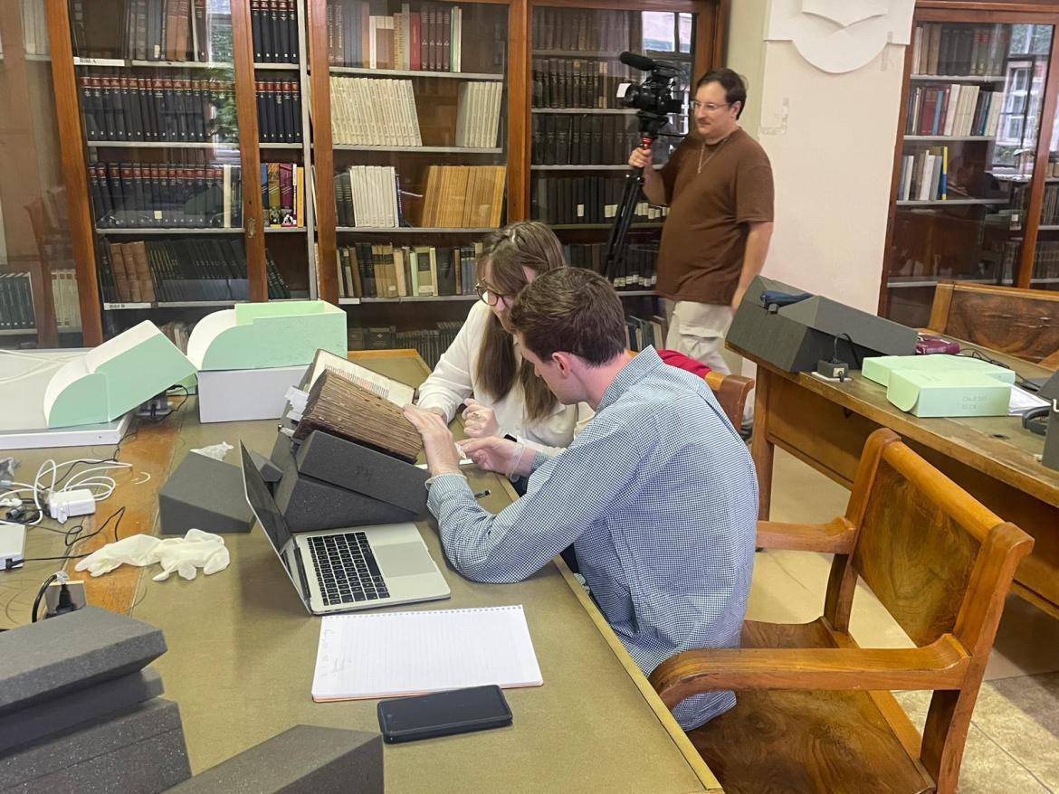
[(1036, 363), (1059, 350), (1059, 292), (941, 282), (929, 327)]

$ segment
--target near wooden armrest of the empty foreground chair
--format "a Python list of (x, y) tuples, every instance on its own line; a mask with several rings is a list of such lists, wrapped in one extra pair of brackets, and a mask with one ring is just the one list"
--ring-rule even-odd
[(669, 708), (714, 689), (958, 689), (970, 655), (951, 634), (922, 648), (705, 648), (650, 674)]

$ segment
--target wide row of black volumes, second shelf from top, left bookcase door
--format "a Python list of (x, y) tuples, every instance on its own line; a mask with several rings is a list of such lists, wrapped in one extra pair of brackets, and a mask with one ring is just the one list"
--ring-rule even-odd
[(115, 75), (77, 84), (89, 141), (236, 140), (231, 80)]

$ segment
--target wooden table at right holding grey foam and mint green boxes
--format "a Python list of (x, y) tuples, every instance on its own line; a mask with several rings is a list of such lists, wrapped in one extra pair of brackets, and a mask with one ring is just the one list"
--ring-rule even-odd
[[(849, 488), (864, 439), (880, 427), (892, 428), (986, 507), (1034, 536), (1033, 554), (1020, 565), (1012, 592), (1059, 617), (1059, 471), (1034, 457), (1044, 448), (1043, 436), (1024, 430), (1012, 416), (921, 419), (891, 404), (885, 389), (859, 372), (845, 383), (831, 383), (785, 372), (730, 346), (757, 364), (751, 454), (761, 519), (769, 518), (775, 446)], [(1021, 359), (979, 349), (1024, 377), (1051, 375)]]

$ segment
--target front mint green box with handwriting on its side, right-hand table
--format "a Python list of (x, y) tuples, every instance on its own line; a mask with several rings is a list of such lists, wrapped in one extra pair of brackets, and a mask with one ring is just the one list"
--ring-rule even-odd
[(915, 416), (1007, 416), (1011, 384), (985, 373), (897, 369), (886, 399)]

